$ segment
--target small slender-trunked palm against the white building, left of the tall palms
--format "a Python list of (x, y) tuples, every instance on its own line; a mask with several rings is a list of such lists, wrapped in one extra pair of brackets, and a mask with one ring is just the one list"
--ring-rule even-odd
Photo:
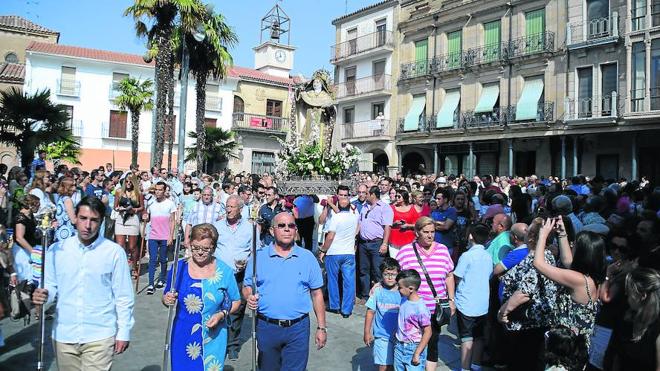
[(119, 96), (115, 104), (123, 110), (131, 112), (131, 165), (137, 165), (138, 138), (140, 134), (140, 113), (153, 108), (153, 81), (140, 81), (135, 77), (127, 77), (119, 82)]

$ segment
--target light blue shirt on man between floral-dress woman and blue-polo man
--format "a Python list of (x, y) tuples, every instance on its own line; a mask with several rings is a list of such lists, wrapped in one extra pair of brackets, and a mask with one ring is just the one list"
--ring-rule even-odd
[(215, 257), (222, 260), (236, 273), (236, 260), (247, 259), (252, 249), (252, 224), (243, 218), (232, 228), (227, 219), (213, 223), (218, 230)]

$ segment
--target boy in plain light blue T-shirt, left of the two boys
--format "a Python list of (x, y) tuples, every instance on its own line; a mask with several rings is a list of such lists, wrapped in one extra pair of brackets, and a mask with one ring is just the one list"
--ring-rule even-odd
[[(401, 294), (396, 285), (396, 276), (401, 266), (396, 259), (386, 257), (380, 265), (383, 280), (374, 287), (367, 301), (364, 319), (364, 343), (373, 344), (374, 364), (385, 371), (394, 363), (394, 333), (401, 305)], [(373, 331), (372, 331), (373, 329)]]

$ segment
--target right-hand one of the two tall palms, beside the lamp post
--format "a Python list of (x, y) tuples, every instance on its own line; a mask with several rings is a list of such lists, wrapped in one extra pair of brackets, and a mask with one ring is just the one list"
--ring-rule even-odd
[[(238, 43), (238, 36), (225, 23), (221, 14), (216, 14), (210, 6), (207, 6), (207, 17), (204, 20), (205, 38), (201, 42), (193, 37), (187, 36), (189, 45), (190, 70), (195, 76), (195, 131), (197, 143), (204, 146), (206, 142), (204, 130), (204, 116), (206, 112), (206, 80), (212, 76), (222, 78), (227, 75), (227, 69), (233, 64), (229, 51)], [(195, 159), (197, 168), (202, 167), (204, 162), (201, 153)]]

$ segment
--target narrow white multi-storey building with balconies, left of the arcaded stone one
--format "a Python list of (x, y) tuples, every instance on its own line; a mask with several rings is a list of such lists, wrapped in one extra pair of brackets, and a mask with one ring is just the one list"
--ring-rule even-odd
[(396, 81), (398, 1), (386, 0), (332, 21), (335, 44), (336, 143), (362, 151), (360, 170), (396, 171)]

